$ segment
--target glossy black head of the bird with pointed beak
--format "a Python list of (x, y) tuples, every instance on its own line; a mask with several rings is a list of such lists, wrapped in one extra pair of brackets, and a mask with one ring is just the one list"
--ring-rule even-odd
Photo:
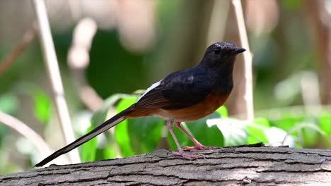
[(245, 49), (236, 46), (236, 44), (232, 42), (216, 42), (208, 46), (200, 64), (207, 68), (221, 68), (228, 65), (233, 66), (237, 54), (243, 51), (245, 51)]

